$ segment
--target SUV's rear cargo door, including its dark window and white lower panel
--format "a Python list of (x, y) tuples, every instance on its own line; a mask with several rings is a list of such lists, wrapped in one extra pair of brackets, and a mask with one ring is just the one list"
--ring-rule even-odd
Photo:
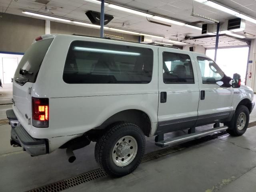
[(14, 74), (13, 110), (27, 131), (31, 128), (31, 89), (52, 40), (53, 38), (49, 38), (33, 43), (20, 60)]

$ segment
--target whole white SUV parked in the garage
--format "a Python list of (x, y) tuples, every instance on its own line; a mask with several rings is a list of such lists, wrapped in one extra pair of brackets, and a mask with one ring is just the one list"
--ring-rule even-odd
[[(233, 82), (195, 52), (77, 35), (44, 35), (24, 54), (6, 112), (11, 144), (31, 156), (96, 142), (95, 158), (112, 176), (136, 169), (145, 136), (168, 146), (226, 130), (244, 134), (253, 90)], [(230, 84), (231, 83), (231, 84)], [(214, 128), (195, 132), (196, 126)], [(219, 123), (224, 123), (220, 127)], [(182, 138), (164, 133), (189, 129)]]

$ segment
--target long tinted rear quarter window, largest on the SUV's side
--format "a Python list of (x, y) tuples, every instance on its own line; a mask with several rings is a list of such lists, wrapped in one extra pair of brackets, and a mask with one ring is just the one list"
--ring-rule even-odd
[(151, 49), (74, 41), (63, 80), (69, 84), (146, 84), (152, 79), (152, 68)]

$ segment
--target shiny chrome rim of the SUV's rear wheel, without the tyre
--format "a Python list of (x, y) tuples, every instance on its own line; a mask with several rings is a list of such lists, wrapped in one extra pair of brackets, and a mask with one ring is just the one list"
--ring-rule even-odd
[(126, 166), (134, 160), (138, 151), (138, 144), (134, 137), (120, 138), (112, 150), (112, 159), (117, 166)]

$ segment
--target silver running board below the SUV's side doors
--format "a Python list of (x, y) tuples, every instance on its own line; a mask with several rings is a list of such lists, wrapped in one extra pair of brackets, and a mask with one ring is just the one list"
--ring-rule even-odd
[(228, 126), (212, 128), (212, 129), (201, 131), (201, 132), (186, 134), (186, 135), (182, 135), (182, 136), (179, 136), (179, 137), (159, 141), (159, 142), (156, 142), (156, 145), (160, 146), (160, 147), (166, 147), (170, 144), (174, 144), (174, 143), (178, 143), (178, 142), (182, 142), (182, 141), (186, 141), (186, 140), (190, 140), (190, 139), (200, 138), (200, 137), (210, 135), (212, 133), (219, 132), (219, 131), (224, 131), (224, 130), (227, 130), (227, 129), (228, 129)]

